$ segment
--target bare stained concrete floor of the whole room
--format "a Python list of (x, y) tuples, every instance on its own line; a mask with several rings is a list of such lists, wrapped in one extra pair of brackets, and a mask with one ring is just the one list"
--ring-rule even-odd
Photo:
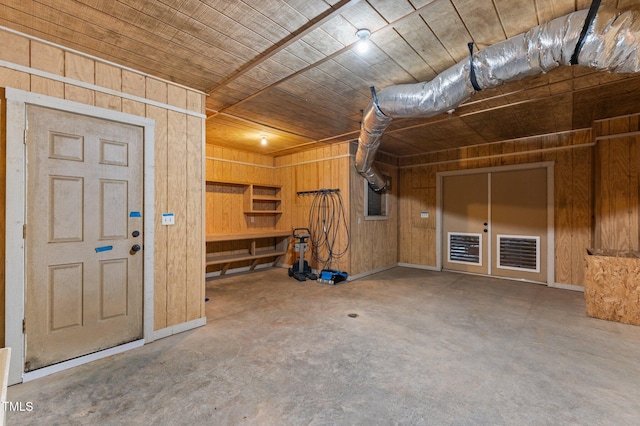
[(586, 317), (582, 293), (395, 268), (207, 295), (206, 327), (10, 387), (33, 411), (8, 424), (640, 423), (640, 327)]

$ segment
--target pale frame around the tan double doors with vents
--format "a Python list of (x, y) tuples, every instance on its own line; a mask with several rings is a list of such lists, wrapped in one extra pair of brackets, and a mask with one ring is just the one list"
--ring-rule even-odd
[[(526, 163), (526, 164), (514, 164), (510, 166), (495, 166), (495, 167), (482, 167), (478, 169), (465, 169), (465, 170), (452, 170), (447, 172), (436, 173), (436, 269), (442, 270), (442, 247), (444, 246), (443, 227), (442, 227), (442, 214), (443, 214), (443, 178), (446, 176), (456, 175), (470, 175), (481, 173), (498, 173), (515, 170), (533, 170), (533, 169), (546, 169), (547, 170), (547, 286), (555, 286), (555, 232), (554, 232), (554, 213), (555, 213), (555, 198), (554, 198), (554, 161), (544, 161), (538, 163)], [(489, 202), (491, 202), (491, 195), (489, 195)], [(491, 256), (493, 245), (489, 241), (488, 247), (488, 262), (491, 265)], [(491, 269), (489, 269), (491, 270)], [(491, 275), (493, 276), (493, 275)], [(502, 278), (502, 277), (496, 277)], [(509, 279), (509, 278), (505, 278)]]

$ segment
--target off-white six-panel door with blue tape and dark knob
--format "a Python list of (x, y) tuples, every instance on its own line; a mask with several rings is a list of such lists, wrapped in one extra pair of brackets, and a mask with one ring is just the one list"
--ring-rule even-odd
[(143, 332), (143, 130), (27, 106), (25, 369)]

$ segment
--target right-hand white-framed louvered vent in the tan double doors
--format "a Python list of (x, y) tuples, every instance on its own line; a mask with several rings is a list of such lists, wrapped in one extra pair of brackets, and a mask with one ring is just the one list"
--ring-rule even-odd
[(498, 268), (540, 272), (540, 237), (498, 235)]

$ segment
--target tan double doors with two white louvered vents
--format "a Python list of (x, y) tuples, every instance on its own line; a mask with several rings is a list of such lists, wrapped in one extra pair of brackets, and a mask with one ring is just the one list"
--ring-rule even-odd
[(547, 169), (442, 178), (443, 269), (547, 282)]

